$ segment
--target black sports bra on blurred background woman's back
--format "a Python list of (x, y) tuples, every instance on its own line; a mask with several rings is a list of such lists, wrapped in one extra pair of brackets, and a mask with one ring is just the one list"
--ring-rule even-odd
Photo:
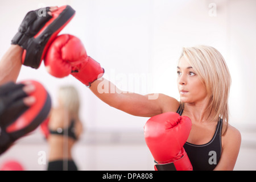
[(71, 125), (68, 128), (61, 128), (58, 127), (57, 130), (49, 129), (49, 133), (53, 135), (63, 135), (67, 137), (71, 137), (74, 140), (77, 140), (76, 133), (75, 133), (75, 120), (72, 119)]

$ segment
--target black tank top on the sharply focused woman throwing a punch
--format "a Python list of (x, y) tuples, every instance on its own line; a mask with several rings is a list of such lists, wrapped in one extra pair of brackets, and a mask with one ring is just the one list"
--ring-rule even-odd
[[(182, 115), (183, 109), (179, 107), (177, 113)], [(222, 119), (218, 121), (213, 138), (208, 143), (184, 144), (194, 171), (212, 171), (217, 166), (221, 156), (221, 128)]]

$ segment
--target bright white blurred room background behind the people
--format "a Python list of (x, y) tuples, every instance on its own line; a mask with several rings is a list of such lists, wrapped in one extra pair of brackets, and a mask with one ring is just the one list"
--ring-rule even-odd
[[(255, 0), (1, 1), (0, 55), (9, 48), (27, 11), (55, 5), (71, 5), (76, 10), (60, 34), (79, 37), (88, 55), (105, 69), (104, 77), (122, 90), (164, 93), (179, 100), (176, 64), (182, 47), (206, 44), (217, 48), (232, 75), (230, 124), (242, 134), (235, 170), (256, 169)], [(42, 82), (53, 106), (60, 85), (79, 90), (85, 132), (73, 154), (81, 170), (154, 169), (143, 138), (148, 118), (108, 106), (72, 76), (52, 77), (44, 64), (37, 70), (22, 67), (18, 81), (27, 79)], [(36, 130), (3, 154), (0, 166), (14, 159), (26, 170), (44, 170), (46, 164), (39, 162), (42, 151), (47, 160), (47, 143)]]

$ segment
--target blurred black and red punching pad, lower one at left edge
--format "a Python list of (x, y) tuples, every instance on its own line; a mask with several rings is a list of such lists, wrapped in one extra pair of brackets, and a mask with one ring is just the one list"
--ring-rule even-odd
[[(15, 140), (35, 130), (51, 109), (51, 98), (43, 85), (30, 82), (35, 86), (35, 91), (29, 95), (23, 91), (23, 83), (8, 82), (0, 86), (0, 154)], [(24, 104), (23, 99), (27, 96), (35, 97), (33, 105)]]

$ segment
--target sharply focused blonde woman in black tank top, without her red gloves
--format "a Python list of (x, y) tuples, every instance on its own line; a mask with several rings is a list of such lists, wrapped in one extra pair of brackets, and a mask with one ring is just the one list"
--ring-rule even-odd
[[(109, 85), (115, 93), (98, 92), (99, 84)], [(164, 94), (148, 100), (148, 95), (122, 92), (104, 78), (94, 81), (90, 89), (110, 106), (132, 115), (152, 117), (166, 112), (187, 115), (192, 129), (184, 148), (193, 169), (233, 170), (241, 135), (229, 125), (230, 84), (229, 69), (221, 53), (213, 47), (197, 46), (183, 48), (177, 64), (180, 101)]]

